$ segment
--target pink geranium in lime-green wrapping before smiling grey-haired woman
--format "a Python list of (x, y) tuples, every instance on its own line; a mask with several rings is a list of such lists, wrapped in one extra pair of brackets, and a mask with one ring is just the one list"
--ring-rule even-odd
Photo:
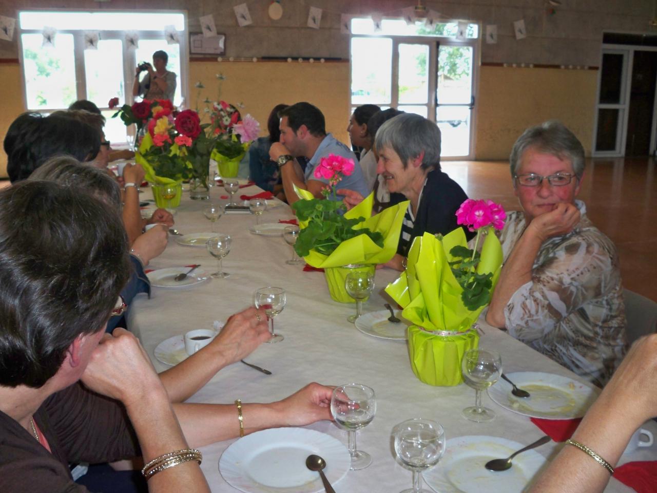
[(329, 195), (336, 198), (338, 183), (353, 172), (354, 165), (353, 160), (334, 154), (322, 158), (315, 177), (329, 180), (322, 191), (325, 199), (297, 189), (304, 200), (292, 204), (301, 228), (294, 249), (307, 264), (324, 269), (331, 297), (344, 303), (354, 302), (344, 289), (351, 269), (374, 273), (376, 264), (394, 256), (408, 206), (408, 202), (401, 202), (372, 216), (373, 195), (349, 211), (342, 202), (328, 200)]

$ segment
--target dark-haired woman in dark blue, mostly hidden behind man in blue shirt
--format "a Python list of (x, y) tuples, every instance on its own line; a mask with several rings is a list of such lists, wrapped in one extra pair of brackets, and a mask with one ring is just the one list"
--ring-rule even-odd
[(258, 187), (270, 191), (281, 200), (285, 200), (283, 185), (281, 185), (281, 174), (278, 165), (269, 157), (269, 148), (274, 142), (281, 139), (279, 112), (287, 107), (288, 105), (283, 104), (274, 106), (271, 113), (269, 113), (269, 118), (267, 118), (269, 135), (259, 137), (248, 150), (250, 178), (256, 182)]

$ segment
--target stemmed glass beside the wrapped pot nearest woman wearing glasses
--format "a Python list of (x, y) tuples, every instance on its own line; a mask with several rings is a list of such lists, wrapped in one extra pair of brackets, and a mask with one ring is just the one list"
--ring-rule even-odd
[(463, 380), (474, 388), (474, 406), (461, 411), (464, 418), (476, 423), (492, 421), (495, 411), (482, 406), (482, 390), (493, 385), (502, 373), (502, 358), (499, 352), (491, 349), (470, 349), (463, 354), (461, 361)]

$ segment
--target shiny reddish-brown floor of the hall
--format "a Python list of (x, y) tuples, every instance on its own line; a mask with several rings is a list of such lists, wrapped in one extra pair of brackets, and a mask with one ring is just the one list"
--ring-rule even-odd
[[(443, 170), (474, 199), (520, 208), (507, 162), (445, 161)], [(0, 188), (9, 181), (0, 181)], [(627, 289), (657, 301), (657, 177), (648, 158), (589, 159), (579, 198), (616, 243)]]

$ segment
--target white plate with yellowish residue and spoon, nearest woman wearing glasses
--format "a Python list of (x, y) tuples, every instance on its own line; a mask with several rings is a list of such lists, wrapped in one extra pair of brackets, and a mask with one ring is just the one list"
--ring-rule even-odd
[(519, 371), (507, 377), (516, 387), (527, 390), (530, 397), (514, 396), (511, 384), (502, 379), (488, 389), (488, 395), (503, 408), (530, 417), (582, 417), (600, 394), (597, 387), (554, 373)]

